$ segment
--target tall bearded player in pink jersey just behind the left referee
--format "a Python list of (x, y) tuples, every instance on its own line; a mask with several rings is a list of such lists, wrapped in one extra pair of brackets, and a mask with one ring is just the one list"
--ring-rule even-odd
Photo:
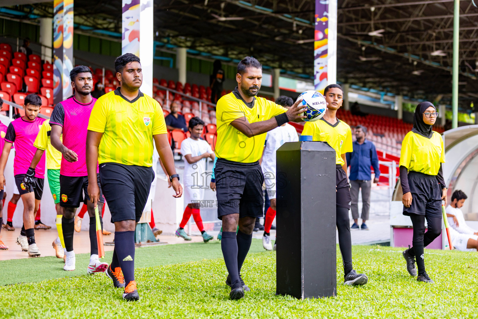
[[(88, 196), (88, 172), (86, 166), (87, 127), (96, 99), (91, 96), (93, 78), (87, 66), (76, 66), (70, 72), (71, 86), (75, 91), (72, 98), (57, 103), (50, 118), (52, 126), (51, 143), (63, 154), (60, 168), (60, 206), (63, 207), (63, 239), (65, 242), (66, 261), (64, 270), (75, 270), (75, 252), (73, 251), (73, 234), (75, 232), (75, 213), (83, 201), (87, 205), (90, 217), (90, 262), (88, 274), (104, 272), (108, 267), (98, 259), (98, 242), (96, 238), (95, 208)], [(60, 135), (63, 133), (63, 142)], [(99, 171), (97, 168), (99, 185)], [(100, 187), (101, 189), (101, 187)], [(83, 195), (83, 193), (85, 193)], [(100, 196), (99, 210), (105, 202)], [(100, 217), (101, 229), (103, 220)]]

